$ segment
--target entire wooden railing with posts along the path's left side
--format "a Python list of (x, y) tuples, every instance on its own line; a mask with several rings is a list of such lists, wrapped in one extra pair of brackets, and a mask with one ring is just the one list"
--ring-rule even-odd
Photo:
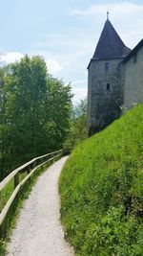
[[(10, 175), (8, 175), (1, 183), (0, 183), (0, 200), (1, 200), (1, 193), (2, 190), (6, 187), (6, 185), (10, 182), (10, 180), (12, 178), (14, 178), (14, 190), (9, 198), (9, 200), (7, 201), (6, 205), (4, 206), (4, 208), (2, 209), (1, 213), (0, 213), (0, 229), (1, 226), (3, 224), (3, 222), (5, 221), (7, 214), (10, 210), (10, 206), (12, 204), (12, 202), (14, 201), (14, 199), (16, 198), (18, 192), (20, 191), (20, 188), (26, 183), (26, 181), (28, 179), (30, 179), (31, 175), (36, 172), (36, 170), (45, 165), (46, 163), (54, 160), (55, 157), (59, 157), (63, 154), (63, 151), (54, 151), (48, 154), (44, 154), (42, 156), (38, 156), (36, 158), (33, 158), (31, 161), (29, 161), (28, 163), (18, 167), (17, 169), (13, 170)], [(19, 175), (20, 173), (23, 172), (27, 172), (28, 175), (26, 175), (21, 182), (19, 182)], [(1, 205), (1, 201), (0, 201), (0, 205)], [(0, 209), (1, 210), (1, 209)]]

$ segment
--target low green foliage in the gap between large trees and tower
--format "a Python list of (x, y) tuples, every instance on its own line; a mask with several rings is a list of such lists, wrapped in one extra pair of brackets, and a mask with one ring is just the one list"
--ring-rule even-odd
[(66, 150), (72, 149), (79, 142), (87, 138), (87, 98), (81, 100), (78, 105), (72, 107), (70, 129), (64, 143)]

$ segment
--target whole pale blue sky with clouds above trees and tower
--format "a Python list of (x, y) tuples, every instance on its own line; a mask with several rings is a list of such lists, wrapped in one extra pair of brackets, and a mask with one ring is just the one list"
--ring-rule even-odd
[(43, 56), (54, 78), (72, 83), (73, 104), (87, 96), (87, 66), (110, 12), (133, 47), (143, 37), (143, 0), (0, 0), (0, 61)]

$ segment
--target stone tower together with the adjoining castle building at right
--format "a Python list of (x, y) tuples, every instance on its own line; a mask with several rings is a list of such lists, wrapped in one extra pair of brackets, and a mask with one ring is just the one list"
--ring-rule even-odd
[(106, 128), (121, 106), (143, 101), (143, 40), (131, 51), (106, 21), (88, 66), (88, 132)]

